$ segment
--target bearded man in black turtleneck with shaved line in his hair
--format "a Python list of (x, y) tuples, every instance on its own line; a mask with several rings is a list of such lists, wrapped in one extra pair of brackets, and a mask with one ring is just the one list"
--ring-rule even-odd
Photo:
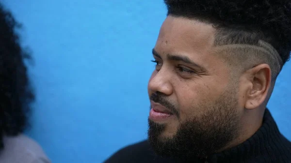
[(291, 51), (291, 0), (164, 0), (148, 140), (105, 163), (291, 163), (266, 108)]

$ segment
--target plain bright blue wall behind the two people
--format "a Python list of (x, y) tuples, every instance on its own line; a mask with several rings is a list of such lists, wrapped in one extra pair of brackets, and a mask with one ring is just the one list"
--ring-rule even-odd
[[(53, 163), (100, 163), (146, 138), (162, 0), (3, 0), (24, 24), (37, 100), (28, 134)], [(269, 107), (291, 139), (291, 63)]]

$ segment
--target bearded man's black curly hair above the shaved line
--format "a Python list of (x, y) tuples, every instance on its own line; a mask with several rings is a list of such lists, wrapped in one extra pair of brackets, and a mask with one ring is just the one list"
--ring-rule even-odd
[(291, 0), (164, 0), (168, 13), (200, 20), (217, 30), (216, 45), (271, 44), (283, 60), (290, 59)]

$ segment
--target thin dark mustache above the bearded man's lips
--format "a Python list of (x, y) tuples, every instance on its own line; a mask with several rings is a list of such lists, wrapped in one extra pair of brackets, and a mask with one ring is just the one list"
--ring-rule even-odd
[(173, 114), (177, 115), (179, 117), (179, 111), (177, 109), (177, 106), (175, 104), (172, 104), (169, 102), (161, 93), (153, 93), (150, 97), (150, 100), (152, 100), (155, 103), (159, 103), (169, 109)]

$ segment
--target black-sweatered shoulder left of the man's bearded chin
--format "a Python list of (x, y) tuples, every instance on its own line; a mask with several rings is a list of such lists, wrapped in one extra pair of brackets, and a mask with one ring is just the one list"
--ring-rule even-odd
[(145, 140), (118, 150), (104, 163), (163, 163), (164, 161), (166, 159), (156, 156)]

